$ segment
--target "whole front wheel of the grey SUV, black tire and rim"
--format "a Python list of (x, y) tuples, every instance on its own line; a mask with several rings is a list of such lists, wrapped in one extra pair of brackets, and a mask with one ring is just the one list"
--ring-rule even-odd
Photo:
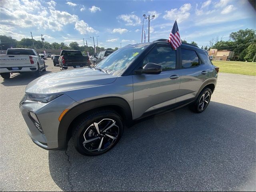
[[(98, 131), (95, 124), (98, 126)], [(110, 128), (108, 129), (108, 127)], [(74, 146), (80, 154), (97, 156), (112, 149), (120, 140), (122, 133), (122, 118), (115, 111), (97, 110), (85, 114), (83, 118), (77, 120), (72, 130), (72, 138)], [(83, 144), (86, 139), (87, 141), (94, 140)]]

